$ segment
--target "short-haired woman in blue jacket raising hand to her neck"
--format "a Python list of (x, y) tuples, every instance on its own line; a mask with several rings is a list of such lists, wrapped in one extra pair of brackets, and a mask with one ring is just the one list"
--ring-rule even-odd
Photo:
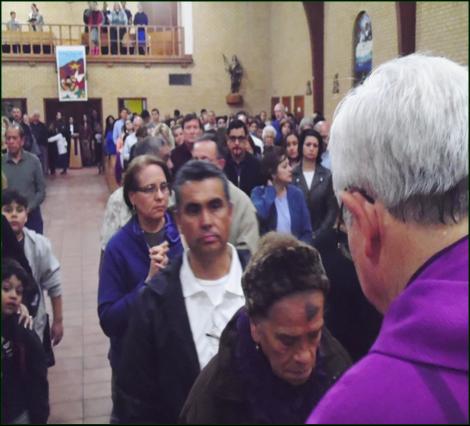
[(299, 240), (312, 243), (310, 213), (302, 191), (291, 184), (292, 167), (285, 150), (274, 146), (265, 151), (261, 171), (266, 185), (251, 191), (256, 207), (260, 234), (269, 231), (292, 234)]

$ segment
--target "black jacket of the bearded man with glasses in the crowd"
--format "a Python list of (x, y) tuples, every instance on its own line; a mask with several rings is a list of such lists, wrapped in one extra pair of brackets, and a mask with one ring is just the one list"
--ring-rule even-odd
[(246, 153), (245, 158), (239, 165), (235, 163), (229, 154), (225, 160), (224, 172), (227, 178), (238, 186), (248, 197), (251, 196), (251, 190), (255, 186), (263, 185), (263, 177), (261, 175), (261, 164), (250, 153)]

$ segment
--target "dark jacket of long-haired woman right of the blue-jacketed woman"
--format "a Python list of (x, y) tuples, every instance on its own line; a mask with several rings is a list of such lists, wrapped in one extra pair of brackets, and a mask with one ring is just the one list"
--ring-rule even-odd
[(300, 163), (292, 171), (292, 183), (304, 193), (312, 221), (313, 243), (319, 246), (328, 230), (333, 228), (339, 211), (333, 192), (331, 172), (317, 164), (312, 185), (308, 189)]

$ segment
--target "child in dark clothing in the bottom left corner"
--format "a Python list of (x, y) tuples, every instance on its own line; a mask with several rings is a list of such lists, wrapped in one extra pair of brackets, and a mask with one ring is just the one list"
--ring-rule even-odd
[(16, 260), (2, 260), (2, 424), (44, 424), (49, 417), (44, 349), (36, 333), (18, 324), (20, 304), (34, 290)]

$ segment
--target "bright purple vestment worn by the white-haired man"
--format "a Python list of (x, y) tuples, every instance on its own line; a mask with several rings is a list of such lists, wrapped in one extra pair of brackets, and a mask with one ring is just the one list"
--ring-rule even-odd
[(413, 275), (307, 423), (468, 423), (468, 236)]

